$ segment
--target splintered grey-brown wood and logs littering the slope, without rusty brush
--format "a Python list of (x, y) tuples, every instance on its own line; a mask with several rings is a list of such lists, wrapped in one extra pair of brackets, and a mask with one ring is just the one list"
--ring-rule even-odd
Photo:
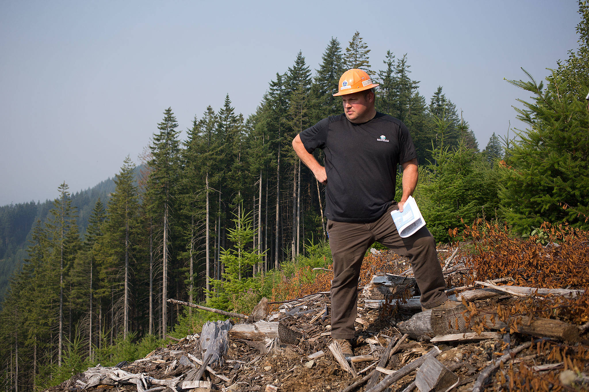
[[(386, 271), (363, 277), (370, 283), (360, 287), (353, 356), (345, 357), (332, 340), (330, 293), (320, 292), (262, 300), (249, 315), (236, 313), (235, 325), (207, 323), (200, 335), (177, 339), (121, 368), (88, 368), (49, 392), (509, 390), (509, 381), (502, 380), (529, 383), (538, 374), (552, 386), (589, 388), (586, 320), (559, 319), (566, 304), (545, 317), (498, 310), (550, 298), (589, 304), (584, 290), (509, 286), (514, 283), (509, 277), (462, 279), (464, 249), (442, 250), (447, 251), (444, 274), (454, 286), (446, 292), (464, 304), (422, 311), (419, 297), (411, 297), (416, 285), (408, 265), (387, 259)], [(532, 343), (534, 337), (550, 339)], [(518, 388), (525, 390), (523, 385)]]

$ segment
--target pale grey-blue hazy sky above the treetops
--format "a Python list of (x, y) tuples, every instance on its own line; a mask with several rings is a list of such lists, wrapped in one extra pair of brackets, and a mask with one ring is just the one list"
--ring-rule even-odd
[[(76, 192), (135, 162), (170, 107), (180, 129), (229, 93), (256, 110), (299, 51), (315, 71), (356, 30), (372, 69), (407, 53), (429, 98), (444, 87), (487, 145), (537, 79), (577, 48), (577, 1), (0, 0), (0, 205)], [(333, 86), (336, 89), (336, 86)], [(183, 135), (184, 137), (184, 135)]]

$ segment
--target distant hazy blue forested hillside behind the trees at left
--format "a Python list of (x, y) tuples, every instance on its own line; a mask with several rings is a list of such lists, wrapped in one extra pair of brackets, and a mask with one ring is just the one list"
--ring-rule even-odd
[[(58, 184), (55, 184), (56, 197), (57, 186)], [(100, 198), (106, 202), (114, 188), (114, 181), (109, 178), (72, 195), (72, 206), (78, 210), (77, 225), (82, 235), (86, 232), (88, 217), (97, 200)], [(0, 303), (4, 300), (12, 272), (27, 258), (28, 240), (31, 239), (31, 230), (35, 222), (45, 222), (52, 206), (53, 200), (0, 206)]]

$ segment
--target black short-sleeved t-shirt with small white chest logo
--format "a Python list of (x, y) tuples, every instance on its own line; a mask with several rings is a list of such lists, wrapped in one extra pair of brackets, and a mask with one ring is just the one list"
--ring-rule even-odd
[(417, 158), (409, 130), (383, 113), (355, 124), (345, 115), (323, 119), (300, 133), (305, 149), (325, 152), (327, 219), (374, 222), (395, 197), (397, 165)]

